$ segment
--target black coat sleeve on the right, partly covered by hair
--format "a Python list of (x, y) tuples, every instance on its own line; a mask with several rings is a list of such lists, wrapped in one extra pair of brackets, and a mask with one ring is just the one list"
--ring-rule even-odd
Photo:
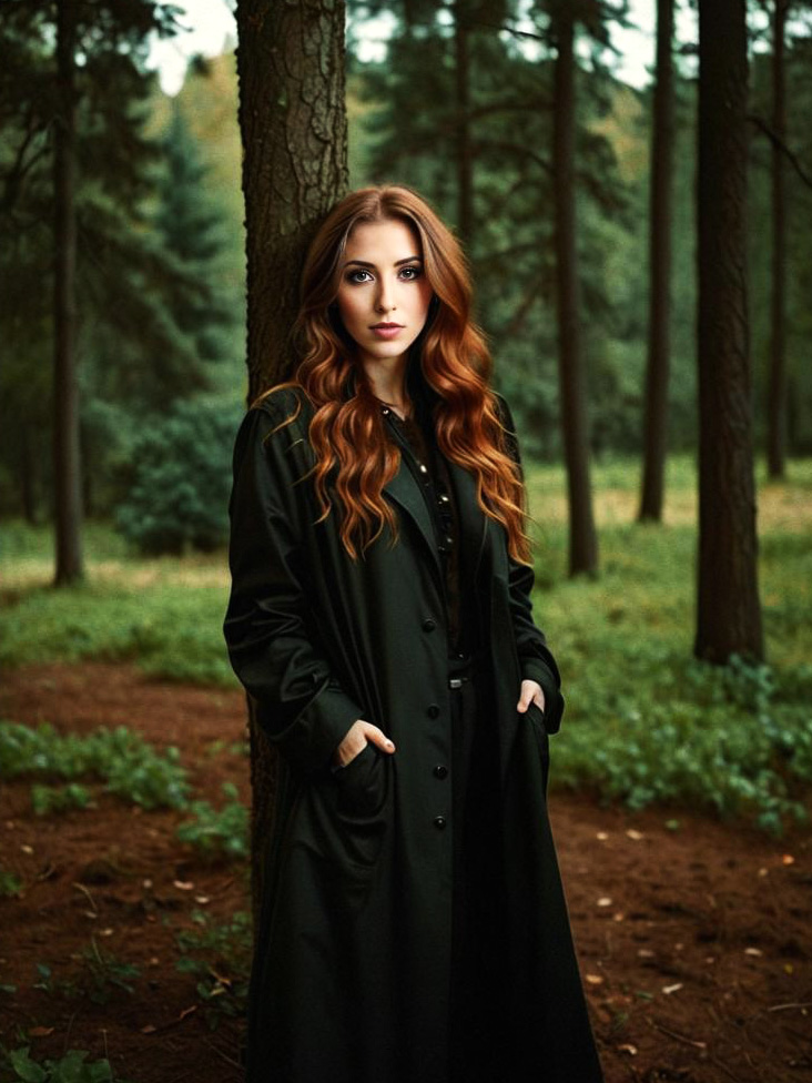
[[(521, 470), (521, 455), (510, 407), (497, 395), (507, 451)], [(545, 634), (532, 619), (531, 593), (535, 583), (531, 565), (520, 564), (508, 555), (508, 588), (510, 593), (510, 616), (512, 618), (516, 649), (519, 655), (522, 680), (535, 680), (545, 694), (545, 728), (556, 733), (561, 726), (564, 696), (561, 676), (556, 659), (547, 646)]]

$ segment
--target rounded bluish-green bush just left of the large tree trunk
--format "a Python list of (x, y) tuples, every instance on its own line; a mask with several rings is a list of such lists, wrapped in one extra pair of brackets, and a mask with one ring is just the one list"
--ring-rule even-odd
[(225, 542), (236, 423), (219, 403), (182, 403), (135, 439), (116, 520), (140, 553), (206, 553)]

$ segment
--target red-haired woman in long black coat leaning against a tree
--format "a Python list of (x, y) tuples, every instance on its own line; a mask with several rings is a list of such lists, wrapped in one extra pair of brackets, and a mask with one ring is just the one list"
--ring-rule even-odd
[(408, 189), (311, 247), (237, 437), (235, 671), (278, 750), (250, 1083), (601, 1079), (546, 809), (564, 700), (459, 246)]

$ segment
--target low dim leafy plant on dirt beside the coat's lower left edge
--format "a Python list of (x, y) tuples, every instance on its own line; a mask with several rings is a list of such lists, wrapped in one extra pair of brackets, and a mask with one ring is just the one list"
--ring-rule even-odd
[(237, 911), (229, 922), (219, 924), (195, 910), (192, 919), (197, 928), (177, 933), (183, 958), (175, 965), (196, 979), (206, 1022), (214, 1030), (221, 1018), (245, 1014), (253, 943), (251, 917)]

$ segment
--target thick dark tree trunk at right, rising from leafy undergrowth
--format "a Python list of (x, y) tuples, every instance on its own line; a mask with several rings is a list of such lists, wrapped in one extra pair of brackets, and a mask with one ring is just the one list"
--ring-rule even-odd
[(745, 0), (699, 4), (699, 568), (694, 654), (763, 658), (747, 303)]

